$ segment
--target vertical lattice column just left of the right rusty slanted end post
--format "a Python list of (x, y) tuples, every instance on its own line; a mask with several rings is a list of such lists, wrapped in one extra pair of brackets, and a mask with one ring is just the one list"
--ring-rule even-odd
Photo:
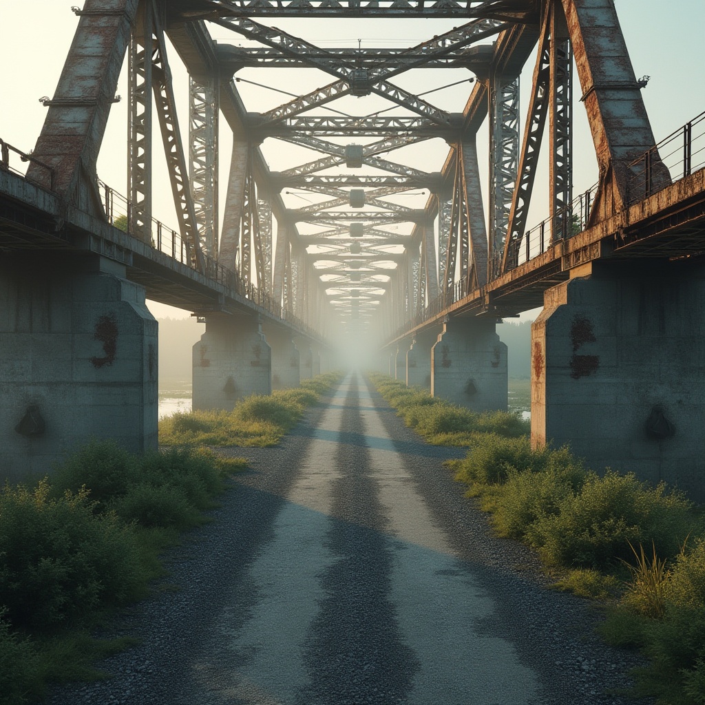
[(551, 8), (551, 102), (548, 130), (551, 163), (548, 186), (551, 189), (549, 213), (551, 243), (572, 235), (572, 49), (563, 8), (556, 1)]

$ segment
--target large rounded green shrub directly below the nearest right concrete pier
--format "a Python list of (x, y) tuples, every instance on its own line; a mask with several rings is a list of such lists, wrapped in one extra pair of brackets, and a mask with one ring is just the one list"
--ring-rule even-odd
[(529, 527), (527, 538), (548, 563), (609, 569), (630, 560), (630, 542), (654, 543), (659, 556), (675, 556), (689, 525), (690, 503), (651, 489), (633, 473), (589, 472), (579, 493), (565, 496), (558, 513), (544, 514)]

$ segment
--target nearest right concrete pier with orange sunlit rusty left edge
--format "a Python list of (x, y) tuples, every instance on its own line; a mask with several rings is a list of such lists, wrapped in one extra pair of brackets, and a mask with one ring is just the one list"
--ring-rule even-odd
[(532, 325), (532, 441), (705, 501), (705, 269), (594, 263)]

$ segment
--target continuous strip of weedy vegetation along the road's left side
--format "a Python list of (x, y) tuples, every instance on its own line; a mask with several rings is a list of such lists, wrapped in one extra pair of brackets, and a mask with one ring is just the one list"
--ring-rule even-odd
[(161, 452), (131, 455), (90, 441), (34, 486), (0, 489), (0, 705), (42, 699), (52, 682), (95, 680), (96, 664), (135, 643), (91, 632), (154, 589), (161, 553), (204, 512), (244, 458), (204, 447), (276, 443), (338, 381), (253, 396), (231, 414), (176, 414)]

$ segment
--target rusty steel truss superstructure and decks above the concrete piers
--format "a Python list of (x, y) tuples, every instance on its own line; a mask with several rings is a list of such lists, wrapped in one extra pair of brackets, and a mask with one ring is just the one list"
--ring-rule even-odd
[[(5, 253), (99, 252), (127, 264), (155, 300), (204, 315), (259, 312), (320, 339), (340, 326), (370, 331), (381, 345), (448, 315), (539, 306), (546, 288), (591, 259), (705, 250), (705, 118), (656, 145), (613, 0), (86, 0), (73, 10), (78, 29), (56, 92), (44, 99), (35, 148), (2, 143)], [(405, 48), (324, 48), (271, 26), (286, 18), (393, 18), (402, 37), (422, 18), (453, 27)], [(214, 41), (214, 30), (231, 32), (232, 42)], [(172, 47), (189, 74), (188, 115), (178, 114)], [(99, 180), (97, 159), (125, 56), (123, 197)], [(522, 116), (519, 75), (532, 61)], [(261, 69), (265, 87), (269, 68), (292, 68), (293, 78), (315, 69), (327, 82), (257, 112), (243, 98), (254, 82), (238, 75), (245, 68)], [(439, 69), (465, 70), (462, 110), (398, 85), (417, 69), (436, 70), (434, 80)], [(599, 181), (575, 194), (579, 95)], [(335, 107), (349, 97), (387, 107), (362, 115)], [(483, 125), (488, 155), (479, 154)], [(223, 128), (233, 148), (220, 223)], [(443, 144), (445, 160), (436, 171), (410, 166), (405, 155), (429, 140)], [(310, 156), (272, 171), (263, 151), (271, 141)], [(542, 146), (548, 209), (532, 227)], [(152, 212), (156, 149), (166, 157), (176, 228)], [(28, 161), (26, 176), (13, 173), (13, 159)], [(419, 189), (420, 199), (411, 193)], [(310, 203), (293, 207), (287, 190)], [(400, 198), (410, 193), (414, 207)]]

